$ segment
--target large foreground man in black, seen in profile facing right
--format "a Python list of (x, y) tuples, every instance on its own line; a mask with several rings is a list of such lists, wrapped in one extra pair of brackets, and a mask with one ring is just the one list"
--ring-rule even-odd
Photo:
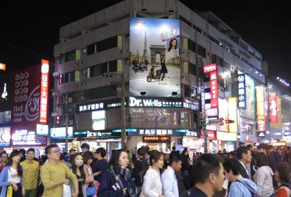
[(218, 154), (204, 153), (193, 163), (195, 186), (180, 197), (212, 197), (215, 191), (222, 191), (224, 182), (223, 159)]

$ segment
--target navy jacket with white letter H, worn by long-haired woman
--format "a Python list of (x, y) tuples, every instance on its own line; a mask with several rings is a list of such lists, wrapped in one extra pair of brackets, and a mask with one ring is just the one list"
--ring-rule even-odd
[[(127, 187), (127, 185), (124, 185)], [(97, 196), (106, 197), (121, 197), (123, 196), (123, 189), (121, 185), (115, 180), (114, 176), (109, 171), (103, 174), (102, 181), (100, 182)]]

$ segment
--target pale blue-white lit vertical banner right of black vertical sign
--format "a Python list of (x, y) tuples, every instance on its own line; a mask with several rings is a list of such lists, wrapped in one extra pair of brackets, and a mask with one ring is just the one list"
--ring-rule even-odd
[(255, 84), (254, 79), (245, 75), (245, 96), (246, 96), (246, 107), (240, 109), (240, 118), (249, 118), (255, 120)]

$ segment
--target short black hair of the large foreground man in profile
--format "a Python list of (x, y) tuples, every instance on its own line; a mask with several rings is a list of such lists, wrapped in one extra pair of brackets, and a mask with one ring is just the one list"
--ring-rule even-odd
[(192, 167), (195, 181), (204, 183), (211, 173), (218, 176), (220, 164), (223, 164), (223, 158), (217, 154), (204, 153), (198, 156), (194, 160)]

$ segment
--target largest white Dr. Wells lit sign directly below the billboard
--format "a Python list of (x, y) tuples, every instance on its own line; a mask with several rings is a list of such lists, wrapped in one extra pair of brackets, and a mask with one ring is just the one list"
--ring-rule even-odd
[(182, 108), (182, 98), (130, 97), (129, 106)]

